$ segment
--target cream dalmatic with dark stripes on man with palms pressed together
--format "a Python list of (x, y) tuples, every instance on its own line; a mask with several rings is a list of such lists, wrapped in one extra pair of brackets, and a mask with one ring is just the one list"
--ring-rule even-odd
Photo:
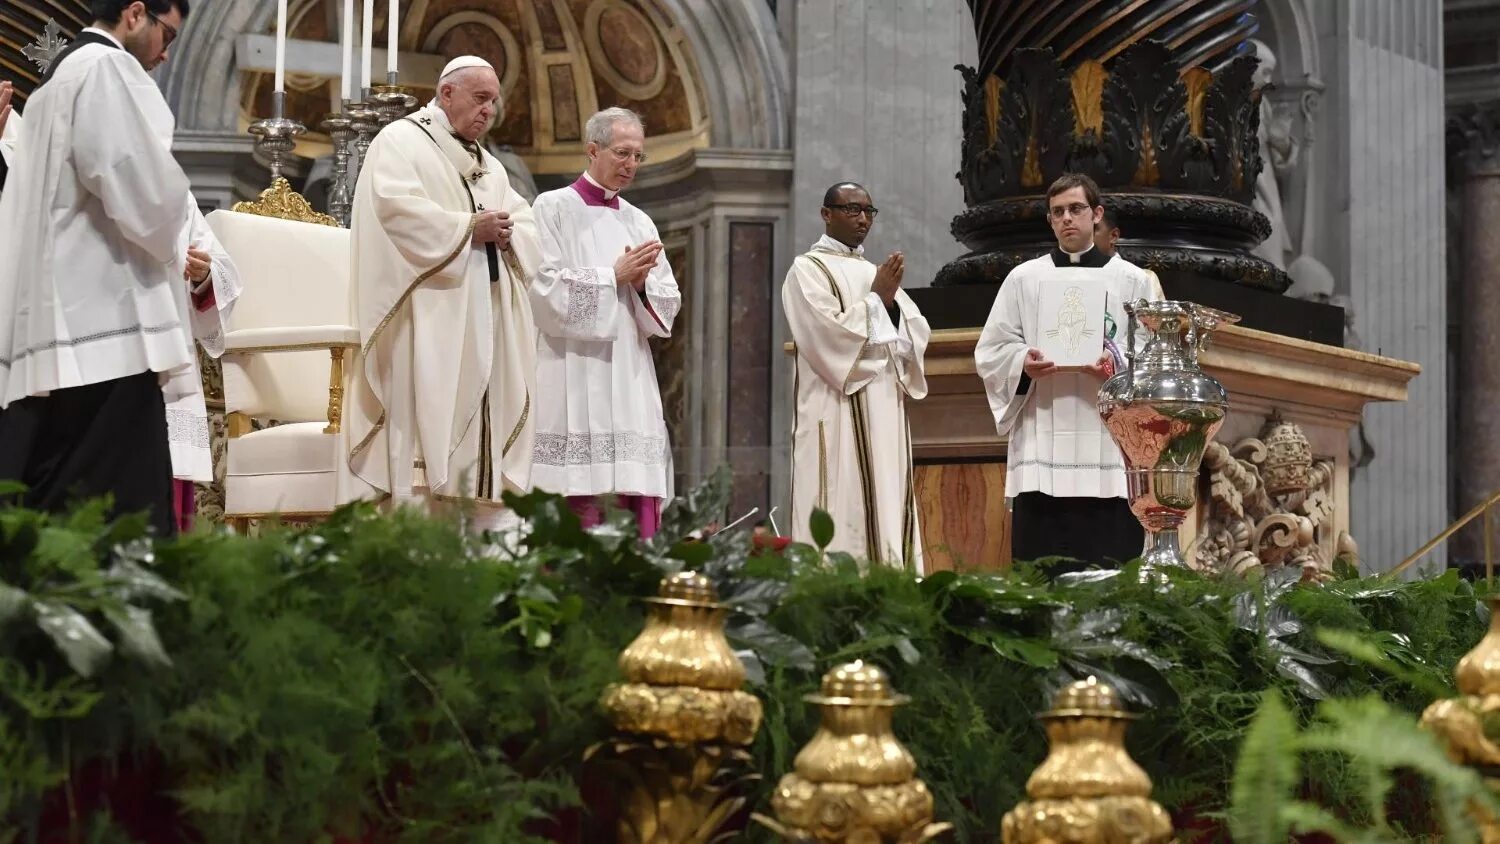
[(824, 235), (792, 262), (782, 306), (796, 343), (792, 537), (810, 541), (814, 508), (834, 520), (834, 550), (922, 573), (908, 399), (927, 396), (932, 330), (906, 291), (900, 325), (874, 264)]

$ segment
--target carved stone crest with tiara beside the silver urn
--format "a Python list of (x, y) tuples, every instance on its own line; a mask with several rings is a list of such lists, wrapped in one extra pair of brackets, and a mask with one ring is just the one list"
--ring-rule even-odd
[[(1260, 436), (1210, 442), (1203, 471), (1208, 520), (1190, 549), (1192, 565), (1234, 574), (1300, 567), (1314, 579), (1332, 571), (1329, 543), (1322, 540), (1334, 522), (1335, 465), (1314, 457), (1296, 423), (1272, 415)], [(1330, 546), (1335, 558), (1358, 562), (1359, 547), (1347, 531)]]

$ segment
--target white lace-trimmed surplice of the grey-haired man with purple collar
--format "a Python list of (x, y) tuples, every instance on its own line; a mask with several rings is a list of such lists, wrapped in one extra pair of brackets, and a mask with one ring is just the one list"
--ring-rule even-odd
[(627, 246), (658, 240), (656, 223), (586, 175), (537, 196), (536, 213), (542, 268), (531, 306), (537, 382), (546, 390), (537, 400), (532, 480), (558, 495), (669, 499), (672, 451), (646, 337), (672, 336), (682, 300), (666, 253), (644, 295), (615, 282), (615, 259)]

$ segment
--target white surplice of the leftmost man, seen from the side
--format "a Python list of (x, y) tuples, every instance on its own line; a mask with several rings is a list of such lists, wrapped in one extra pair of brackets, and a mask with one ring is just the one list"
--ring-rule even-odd
[(189, 367), (195, 204), (156, 82), (129, 52), (86, 43), (26, 114), (24, 166), (0, 195), (0, 408)]

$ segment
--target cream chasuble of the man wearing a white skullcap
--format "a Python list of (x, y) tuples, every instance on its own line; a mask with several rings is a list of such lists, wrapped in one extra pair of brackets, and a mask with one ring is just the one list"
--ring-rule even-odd
[[(510, 214), (508, 249), (472, 243), (478, 211)], [(537, 232), (504, 168), (429, 103), (370, 144), (350, 241), (363, 343), (350, 469), (398, 502), (531, 489)]]

